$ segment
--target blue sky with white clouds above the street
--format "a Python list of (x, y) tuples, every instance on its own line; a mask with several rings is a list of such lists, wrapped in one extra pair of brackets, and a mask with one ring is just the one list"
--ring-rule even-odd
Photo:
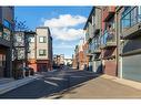
[(72, 57), (74, 46), (84, 36), (83, 27), (91, 7), (16, 7), (14, 17), (26, 21), (34, 31), (37, 27), (49, 27), (53, 38), (53, 54)]

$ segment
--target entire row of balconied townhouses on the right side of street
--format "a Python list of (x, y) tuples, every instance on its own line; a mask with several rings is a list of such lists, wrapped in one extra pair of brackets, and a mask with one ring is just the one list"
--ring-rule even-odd
[(74, 69), (141, 82), (141, 7), (93, 7), (83, 30)]

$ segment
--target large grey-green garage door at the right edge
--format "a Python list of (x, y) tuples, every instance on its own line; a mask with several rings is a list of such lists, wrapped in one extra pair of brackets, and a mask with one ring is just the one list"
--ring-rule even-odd
[(122, 57), (122, 77), (141, 82), (141, 54)]

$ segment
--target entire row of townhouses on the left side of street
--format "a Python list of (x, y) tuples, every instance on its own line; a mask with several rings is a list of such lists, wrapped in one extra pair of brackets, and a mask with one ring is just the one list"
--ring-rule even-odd
[(16, 31), (14, 8), (0, 7), (0, 77), (13, 77), (21, 67), (52, 70), (52, 36), (48, 27)]

